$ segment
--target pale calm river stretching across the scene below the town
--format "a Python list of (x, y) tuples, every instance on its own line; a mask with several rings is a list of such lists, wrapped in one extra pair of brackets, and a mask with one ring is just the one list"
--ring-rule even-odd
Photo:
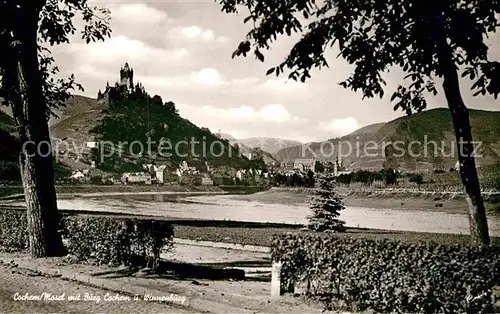
[[(11, 203), (22, 205), (21, 202)], [(234, 220), (305, 224), (310, 210), (306, 203), (283, 204), (248, 196), (206, 195), (168, 196), (141, 195), (123, 197), (82, 197), (59, 199), (61, 209), (108, 211), (176, 218)], [(340, 218), (350, 227), (468, 234), (469, 223), (465, 213), (415, 209), (389, 209), (347, 206)], [(489, 217), (491, 236), (500, 236), (500, 219)]]

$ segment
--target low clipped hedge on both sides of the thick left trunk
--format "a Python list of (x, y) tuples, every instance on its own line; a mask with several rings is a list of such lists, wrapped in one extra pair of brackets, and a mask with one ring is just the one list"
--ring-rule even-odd
[[(26, 213), (0, 212), (0, 250), (28, 248)], [(173, 246), (173, 227), (164, 221), (68, 215), (61, 231), (69, 255), (78, 263), (156, 267)]]

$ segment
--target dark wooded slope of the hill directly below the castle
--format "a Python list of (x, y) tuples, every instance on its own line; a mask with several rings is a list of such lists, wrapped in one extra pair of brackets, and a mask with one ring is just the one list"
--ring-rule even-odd
[(105, 171), (140, 171), (144, 163), (177, 165), (187, 161), (200, 170), (212, 167), (250, 168), (260, 165), (241, 156), (227, 140), (182, 118), (173, 102), (150, 97), (136, 85), (134, 90), (110, 92), (107, 108), (90, 135), (109, 143), (98, 162)]

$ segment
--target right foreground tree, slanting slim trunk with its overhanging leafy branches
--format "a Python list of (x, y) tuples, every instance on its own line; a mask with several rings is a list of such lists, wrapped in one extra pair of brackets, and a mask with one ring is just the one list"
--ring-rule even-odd
[[(500, 63), (488, 60), (484, 38), (499, 26), (500, 1), (490, 0), (221, 0), (222, 10), (249, 11), (245, 22), (253, 29), (233, 57), (250, 50), (264, 61), (279, 35), (302, 33), (285, 60), (267, 71), (305, 82), (313, 68), (327, 67), (325, 50), (338, 45), (339, 56), (355, 65), (354, 73), (339, 84), (365, 97), (383, 97), (381, 74), (391, 67), (407, 73), (406, 86), (393, 93), (395, 110), (407, 114), (426, 108), (424, 93), (442, 89), (451, 111), (460, 161), (460, 176), (469, 207), (473, 242), (489, 244), (488, 225), (476, 170), (469, 113), (459, 86), (462, 77), (474, 81), (474, 95), (500, 93)], [(298, 16), (301, 16), (299, 20)], [(302, 18), (303, 17), (303, 18)], [(307, 24), (306, 27), (303, 25)]]

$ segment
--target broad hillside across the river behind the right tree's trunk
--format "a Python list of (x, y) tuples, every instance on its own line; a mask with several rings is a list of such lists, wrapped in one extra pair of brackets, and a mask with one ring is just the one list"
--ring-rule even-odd
[[(474, 140), (482, 142), (477, 163), (498, 163), (500, 112), (470, 110), (470, 119)], [(380, 170), (384, 165), (406, 170), (441, 169), (456, 163), (455, 145), (450, 112), (438, 108), (370, 125), (341, 138), (289, 147), (277, 156), (283, 160), (332, 159), (340, 152), (344, 164), (352, 169)]]

